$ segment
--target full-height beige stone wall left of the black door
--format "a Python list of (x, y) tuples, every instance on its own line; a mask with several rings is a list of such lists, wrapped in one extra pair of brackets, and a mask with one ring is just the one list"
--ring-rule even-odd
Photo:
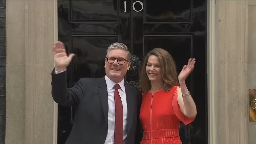
[(54, 1), (6, 1), (6, 143), (53, 143)]

